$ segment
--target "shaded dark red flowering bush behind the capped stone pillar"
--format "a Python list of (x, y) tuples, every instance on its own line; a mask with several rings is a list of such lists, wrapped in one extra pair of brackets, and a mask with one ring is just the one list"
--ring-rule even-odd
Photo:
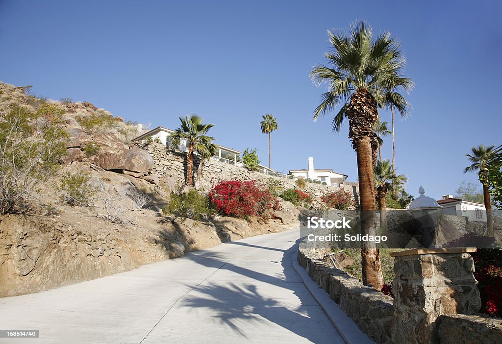
[(471, 253), (474, 277), (481, 294), (481, 312), (502, 317), (502, 250), (478, 249)]

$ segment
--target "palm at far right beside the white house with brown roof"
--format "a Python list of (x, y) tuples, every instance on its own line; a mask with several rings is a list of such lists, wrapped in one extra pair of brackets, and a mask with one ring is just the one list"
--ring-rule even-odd
[(496, 155), (497, 150), (495, 146), (486, 147), (484, 144), (480, 144), (477, 147), (471, 147), (471, 154), (465, 154), (467, 160), (472, 163), (470, 166), (464, 168), (464, 173), (477, 171), (479, 181), (483, 185), (483, 199), (486, 209), (486, 233), (490, 237), (494, 237), (495, 232), (493, 231), (493, 221), (491, 218), (490, 193), (488, 191), (488, 186), (483, 183), (483, 180), (486, 180), (486, 170)]

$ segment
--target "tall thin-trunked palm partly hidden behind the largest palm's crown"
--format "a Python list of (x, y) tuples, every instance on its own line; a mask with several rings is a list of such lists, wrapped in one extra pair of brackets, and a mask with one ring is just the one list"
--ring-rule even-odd
[(411, 110), (411, 105), (408, 100), (399, 93), (400, 88), (404, 89), (408, 94), (413, 88), (414, 83), (409, 78), (404, 78), (402, 75), (394, 75), (390, 78), (387, 90), (381, 101), (381, 106), (391, 109), (392, 120), (392, 168), (396, 169), (396, 131), (394, 127), (394, 108), (401, 114), (401, 118), (407, 118)]

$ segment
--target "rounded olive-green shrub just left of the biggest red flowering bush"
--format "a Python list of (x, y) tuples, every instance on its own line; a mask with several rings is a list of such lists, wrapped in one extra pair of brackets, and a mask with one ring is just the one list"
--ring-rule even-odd
[(208, 197), (200, 194), (197, 190), (189, 190), (185, 194), (171, 193), (169, 203), (162, 208), (162, 213), (164, 215), (200, 220), (203, 214), (212, 214), (213, 209), (209, 206)]

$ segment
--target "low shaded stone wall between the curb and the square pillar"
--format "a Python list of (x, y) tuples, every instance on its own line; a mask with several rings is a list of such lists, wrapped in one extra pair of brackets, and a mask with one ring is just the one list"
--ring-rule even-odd
[(378, 343), (391, 343), (392, 298), (366, 287), (346, 272), (314, 258), (305, 241), (300, 243), (298, 262), (312, 279), (326, 290), (357, 326)]

